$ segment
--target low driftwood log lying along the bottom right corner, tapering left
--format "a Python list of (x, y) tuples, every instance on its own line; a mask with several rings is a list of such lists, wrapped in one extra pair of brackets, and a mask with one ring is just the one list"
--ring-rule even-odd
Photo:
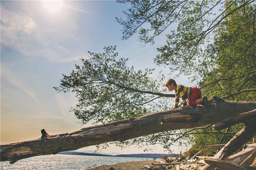
[(220, 159), (204, 159), (204, 162), (216, 168), (225, 170), (256, 170), (256, 168), (251, 166), (236, 165)]

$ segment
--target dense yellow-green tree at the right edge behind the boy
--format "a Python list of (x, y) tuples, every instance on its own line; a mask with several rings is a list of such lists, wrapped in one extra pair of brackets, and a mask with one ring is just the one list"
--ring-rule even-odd
[[(238, 5), (233, 3), (225, 14)], [(201, 74), (200, 85), (207, 94), (217, 93), (229, 100), (255, 100), (255, 16), (255, 5), (244, 6), (218, 26), (214, 43), (207, 49), (214, 63)]]

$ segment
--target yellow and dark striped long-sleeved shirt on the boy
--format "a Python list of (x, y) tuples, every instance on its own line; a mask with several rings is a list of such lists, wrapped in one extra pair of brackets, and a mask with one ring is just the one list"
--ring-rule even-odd
[(177, 85), (175, 90), (175, 103), (174, 107), (178, 107), (180, 98), (182, 99), (183, 106), (187, 106), (186, 99), (192, 94), (192, 88), (184, 85)]

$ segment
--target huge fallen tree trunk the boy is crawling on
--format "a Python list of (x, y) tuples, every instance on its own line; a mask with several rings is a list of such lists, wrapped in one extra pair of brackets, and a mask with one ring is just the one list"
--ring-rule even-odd
[(210, 104), (209, 107), (200, 105), (157, 112), (59, 135), (49, 135), (43, 129), (39, 139), (1, 145), (1, 161), (10, 161), (13, 164), (20, 159), (38, 155), (57, 154), (112, 141), (125, 141), (166, 130), (204, 126), (253, 110), (255, 107), (256, 101), (225, 101)]

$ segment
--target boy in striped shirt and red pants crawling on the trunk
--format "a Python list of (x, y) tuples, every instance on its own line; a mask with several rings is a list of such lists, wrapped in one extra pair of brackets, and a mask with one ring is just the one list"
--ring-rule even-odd
[(211, 99), (208, 99), (207, 96), (202, 98), (202, 93), (199, 88), (196, 87), (186, 87), (183, 85), (177, 85), (175, 80), (169, 79), (165, 83), (165, 87), (168, 88), (168, 90), (173, 91), (175, 90), (175, 103), (174, 107), (172, 109), (176, 109), (179, 105), (180, 97), (182, 99), (183, 106), (180, 108), (186, 108), (187, 102), (186, 99), (188, 99), (188, 105), (189, 106), (195, 106), (196, 104), (205, 104), (206, 107), (209, 107), (209, 102), (213, 101), (224, 101), (224, 99), (217, 97), (216, 95), (213, 95)]

